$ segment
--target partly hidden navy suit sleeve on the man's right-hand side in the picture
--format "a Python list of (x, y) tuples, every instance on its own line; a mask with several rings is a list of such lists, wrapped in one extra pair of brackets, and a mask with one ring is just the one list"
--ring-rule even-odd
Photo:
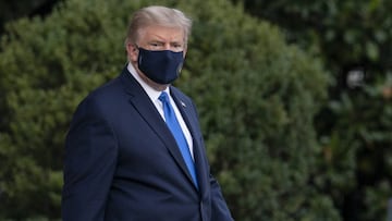
[(221, 188), (218, 181), (210, 175), (210, 185), (211, 185), (211, 209), (212, 216), (211, 220), (215, 221), (233, 221), (228, 205), (223, 198)]

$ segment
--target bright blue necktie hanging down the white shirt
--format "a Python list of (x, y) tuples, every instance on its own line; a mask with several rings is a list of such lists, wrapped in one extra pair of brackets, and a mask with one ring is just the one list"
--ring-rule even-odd
[(185, 136), (181, 130), (180, 123), (179, 123), (177, 119), (175, 118), (174, 109), (170, 105), (169, 95), (166, 91), (163, 91), (159, 96), (159, 100), (162, 101), (162, 105), (163, 105), (163, 113), (164, 113), (166, 123), (167, 123), (168, 127), (170, 128), (171, 133), (173, 134), (173, 136), (180, 147), (180, 151), (183, 156), (183, 159), (186, 163), (186, 167), (192, 175), (192, 179), (193, 179), (196, 187), (198, 187), (195, 164), (194, 164), (194, 161), (191, 156), (189, 147), (188, 147)]

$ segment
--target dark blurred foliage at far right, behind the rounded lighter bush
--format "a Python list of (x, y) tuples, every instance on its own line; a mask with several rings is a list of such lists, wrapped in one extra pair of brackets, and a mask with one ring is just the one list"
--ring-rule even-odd
[(324, 174), (315, 181), (344, 220), (384, 220), (392, 195), (392, 2), (233, 1), (323, 60), (334, 82), (315, 121)]

